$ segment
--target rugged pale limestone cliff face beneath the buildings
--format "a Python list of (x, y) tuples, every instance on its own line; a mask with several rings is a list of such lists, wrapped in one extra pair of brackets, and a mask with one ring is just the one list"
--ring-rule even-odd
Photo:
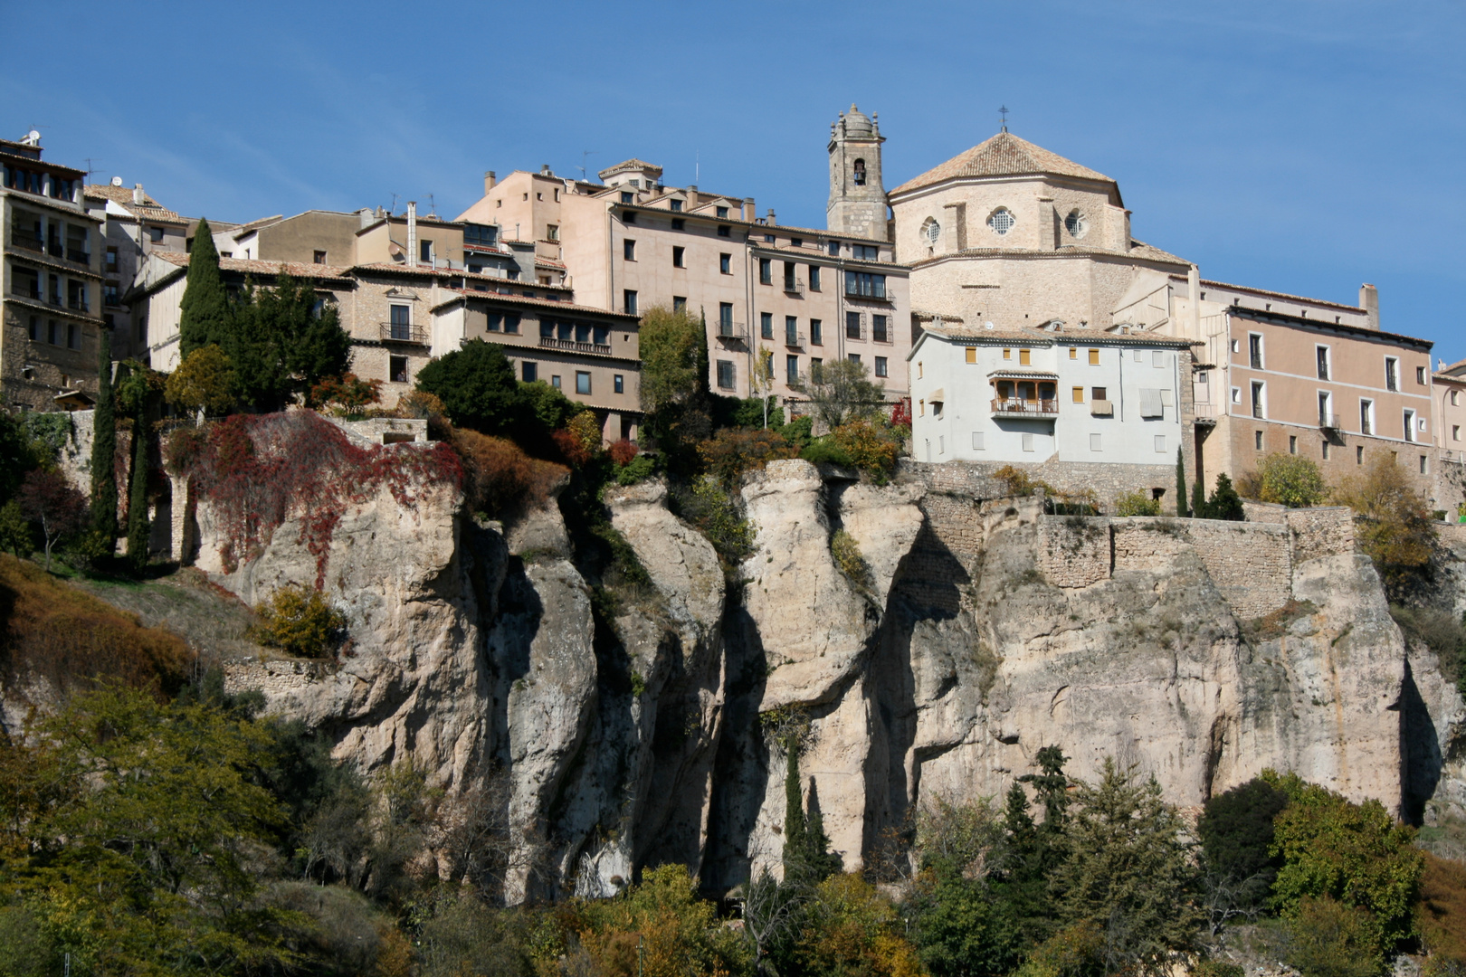
[[(802, 772), (849, 869), (913, 806), (997, 795), (1048, 744), (1079, 778), (1138, 763), (1185, 806), (1265, 768), (1409, 816), (1466, 804), (1466, 705), (1322, 516), (1060, 519), (918, 475), (771, 463), (742, 491), (734, 584), (660, 482), (608, 489), (649, 577), (614, 599), (554, 502), (500, 530), (454, 489), (384, 492), (328, 554), (350, 655), (271, 684), (271, 707), (366, 770), (410, 759), (450, 792), (504, 770), (510, 898), (604, 895), (664, 861), (712, 889), (777, 870), (767, 727), (789, 715), (809, 721)], [(289, 520), (232, 573), (207, 510), (199, 529), (201, 565), (246, 601), (315, 579)], [(863, 570), (831, 554), (839, 530)]]

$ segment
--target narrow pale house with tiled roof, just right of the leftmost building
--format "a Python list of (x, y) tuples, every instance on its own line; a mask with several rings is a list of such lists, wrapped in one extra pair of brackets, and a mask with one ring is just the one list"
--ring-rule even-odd
[(141, 183), (126, 187), (122, 177), (85, 187), (86, 211), (103, 221), (101, 318), (111, 327), (111, 357), (147, 353), (141, 318), (133, 318), (128, 289), (142, 261), (155, 250), (186, 250), (189, 220), (158, 204)]

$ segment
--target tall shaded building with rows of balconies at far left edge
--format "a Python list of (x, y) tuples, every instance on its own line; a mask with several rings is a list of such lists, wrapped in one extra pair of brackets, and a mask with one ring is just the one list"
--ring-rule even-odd
[(0, 390), (9, 407), (89, 406), (97, 393), (101, 221), (85, 170), (41, 158), (41, 136), (0, 139)]

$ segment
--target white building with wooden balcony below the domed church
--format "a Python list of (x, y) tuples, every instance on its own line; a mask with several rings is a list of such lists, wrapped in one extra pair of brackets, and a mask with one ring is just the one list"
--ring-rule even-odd
[(934, 321), (910, 353), (916, 460), (1174, 466), (1189, 349), (1119, 330)]

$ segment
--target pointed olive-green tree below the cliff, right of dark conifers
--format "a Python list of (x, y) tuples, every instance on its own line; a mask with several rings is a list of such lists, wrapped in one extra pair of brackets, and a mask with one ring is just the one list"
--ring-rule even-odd
[(1182, 822), (1155, 778), (1139, 781), (1107, 757), (1100, 784), (1080, 784), (1067, 823), (1069, 858), (1054, 888), (1069, 924), (1105, 933), (1105, 964), (1163, 970), (1189, 949), (1202, 913)]

